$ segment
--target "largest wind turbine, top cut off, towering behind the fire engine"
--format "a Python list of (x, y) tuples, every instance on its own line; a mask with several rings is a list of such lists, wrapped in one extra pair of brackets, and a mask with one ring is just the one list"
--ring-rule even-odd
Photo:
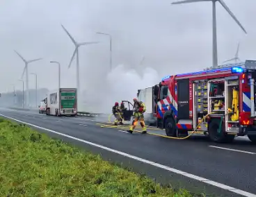
[(223, 0), (185, 0), (185, 1), (177, 1), (173, 2), (172, 4), (182, 4), (182, 3), (195, 3), (195, 2), (205, 2), (205, 1), (211, 1), (212, 2), (212, 35), (213, 35), (213, 49), (212, 49), (212, 64), (213, 67), (218, 66), (218, 53), (217, 53), (217, 28), (216, 28), (216, 1), (221, 3), (221, 6), (225, 8), (225, 10), (230, 14), (230, 16), (234, 19), (235, 22), (241, 27), (241, 29), (246, 33), (245, 28), (241, 25), (237, 17), (234, 16), (234, 14), (231, 12), (230, 8), (227, 7), (227, 5), (224, 3)]

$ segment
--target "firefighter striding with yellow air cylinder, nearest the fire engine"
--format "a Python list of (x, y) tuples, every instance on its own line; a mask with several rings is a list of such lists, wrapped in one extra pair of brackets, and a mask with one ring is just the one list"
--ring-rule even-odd
[(136, 127), (138, 121), (141, 123), (142, 127), (142, 133), (147, 133), (147, 128), (145, 126), (144, 122), (144, 112), (146, 111), (146, 106), (142, 101), (138, 101), (137, 99), (134, 99), (134, 121), (132, 121), (131, 127), (127, 132), (134, 132), (134, 128)]

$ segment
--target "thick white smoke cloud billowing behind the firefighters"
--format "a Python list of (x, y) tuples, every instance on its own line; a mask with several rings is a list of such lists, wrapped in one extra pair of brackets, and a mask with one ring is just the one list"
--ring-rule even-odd
[[(118, 65), (105, 78), (101, 79), (102, 85), (97, 87), (97, 91), (93, 86), (88, 89), (84, 108), (90, 112), (109, 113), (116, 101), (118, 103), (122, 100), (132, 101), (136, 97), (138, 89), (151, 87), (159, 81), (159, 74), (150, 67), (146, 67), (139, 74), (135, 69)], [(93, 95), (93, 97), (89, 95)]]

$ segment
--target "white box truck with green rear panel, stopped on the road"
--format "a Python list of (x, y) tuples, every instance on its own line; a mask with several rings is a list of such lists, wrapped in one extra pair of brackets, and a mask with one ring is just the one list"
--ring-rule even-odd
[(77, 88), (60, 88), (47, 94), (46, 114), (54, 116), (77, 115)]

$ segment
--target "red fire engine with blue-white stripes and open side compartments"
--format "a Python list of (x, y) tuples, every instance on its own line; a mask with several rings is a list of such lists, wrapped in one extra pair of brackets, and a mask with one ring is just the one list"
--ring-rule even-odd
[(201, 132), (214, 142), (256, 142), (256, 61), (162, 78), (154, 86), (157, 127), (170, 137)]

